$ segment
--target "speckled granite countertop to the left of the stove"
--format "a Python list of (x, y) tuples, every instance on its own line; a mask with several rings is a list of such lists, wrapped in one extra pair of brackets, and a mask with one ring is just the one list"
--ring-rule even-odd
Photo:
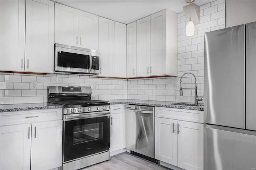
[(63, 108), (63, 106), (59, 105), (59, 104), (52, 104), (52, 103), (1, 104), (0, 112), (40, 110), (40, 109), (58, 109), (58, 108)]

